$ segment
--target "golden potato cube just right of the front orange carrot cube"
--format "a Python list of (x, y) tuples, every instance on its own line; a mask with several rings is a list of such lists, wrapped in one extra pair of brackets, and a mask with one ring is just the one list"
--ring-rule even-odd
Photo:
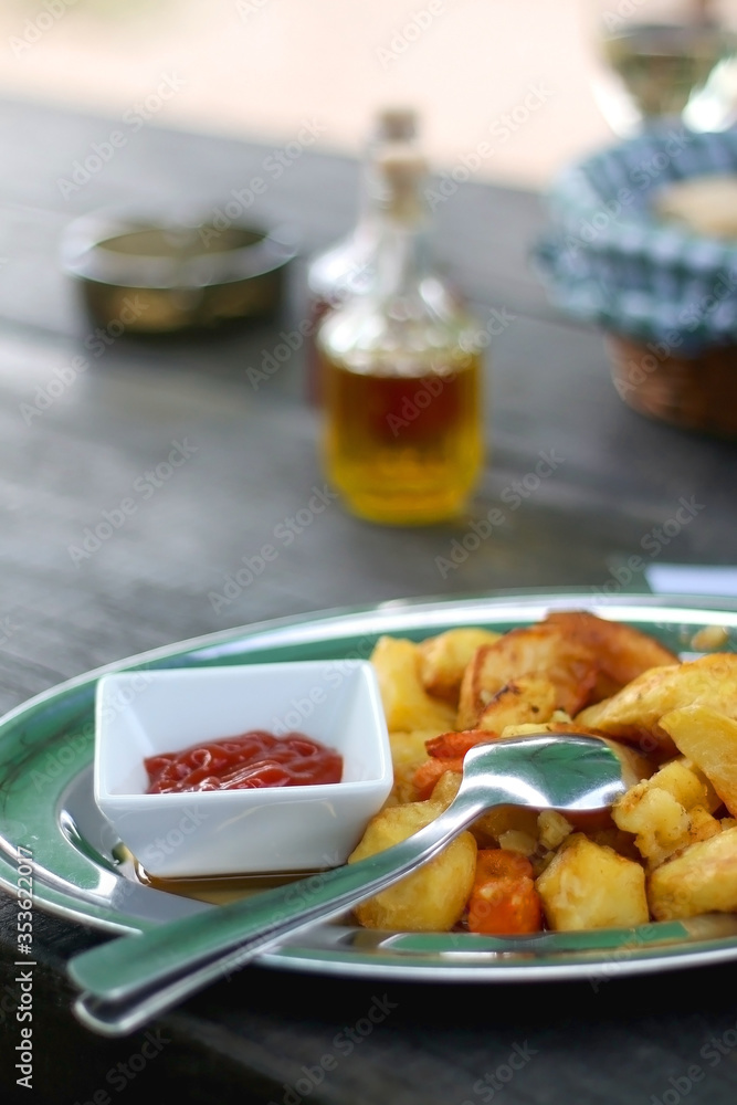
[(582, 833), (568, 836), (535, 886), (550, 928), (629, 928), (649, 919), (645, 872)]

